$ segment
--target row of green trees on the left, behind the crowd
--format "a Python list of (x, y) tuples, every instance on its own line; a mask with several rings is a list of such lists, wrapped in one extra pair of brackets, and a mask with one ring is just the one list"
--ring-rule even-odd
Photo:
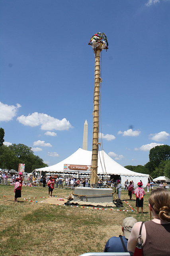
[(30, 173), (36, 168), (48, 166), (43, 163), (43, 159), (35, 156), (31, 147), (24, 144), (12, 144), (5, 146), (4, 129), (0, 128), (0, 168), (14, 169), (18, 171), (18, 164), (25, 164), (25, 172)]

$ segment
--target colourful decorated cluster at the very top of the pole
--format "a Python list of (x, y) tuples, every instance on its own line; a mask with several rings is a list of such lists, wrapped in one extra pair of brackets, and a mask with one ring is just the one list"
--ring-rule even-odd
[(105, 35), (105, 33), (96, 33), (92, 36), (92, 38), (90, 38), (90, 42), (88, 43), (89, 45), (91, 45), (95, 50), (103, 50), (103, 49), (108, 49), (108, 41), (107, 41), (107, 36)]

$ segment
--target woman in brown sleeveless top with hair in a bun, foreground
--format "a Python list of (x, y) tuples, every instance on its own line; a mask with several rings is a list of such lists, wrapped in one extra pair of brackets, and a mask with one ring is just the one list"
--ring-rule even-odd
[[(143, 256), (170, 255), (170, 192), (162, 188), (152, 190), (149, 197), (150, 219), (143, 224)], [(132, 228), (127, 250), (134, 252), (142, 222)]]

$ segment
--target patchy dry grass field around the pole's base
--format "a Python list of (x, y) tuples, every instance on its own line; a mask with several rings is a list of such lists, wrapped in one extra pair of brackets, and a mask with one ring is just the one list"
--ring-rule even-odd
[[(71, 192), (55, 188), (53, 196), (67, 198)], [(129, 201), (127, 191), (121, 192), (121, 200), (131, 204), (134, 212), (125, 202), (119, 211), (116, 207), (102, 210), (43, 204), (42, 198), (48, 197), (48, 188), (43, 187), (23, 187), (21, 196), (20, 202), (14, 203), (14, 186), (0, 185), (0, 256), (78, 256), (102, 252), (111, 236), (122, 234), (124, 218), (150, 219), (147, 192), (144, 214), (136, 214), (135, 195)]]

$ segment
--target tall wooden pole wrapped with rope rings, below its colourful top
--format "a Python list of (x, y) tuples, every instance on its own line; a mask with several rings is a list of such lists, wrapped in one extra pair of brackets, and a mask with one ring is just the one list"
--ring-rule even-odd
[[(102, 50), (102, 49), (101, 49)], [(98, 142), (99, 142), (99, 101), (100, 101), (100, 49), (95, 51), (95, 78), (94, 78), (94, 110), (93, 110), (93, 145), (92, 145), (92, 172), (90, 183), (93, 188), (98, 187)]]

